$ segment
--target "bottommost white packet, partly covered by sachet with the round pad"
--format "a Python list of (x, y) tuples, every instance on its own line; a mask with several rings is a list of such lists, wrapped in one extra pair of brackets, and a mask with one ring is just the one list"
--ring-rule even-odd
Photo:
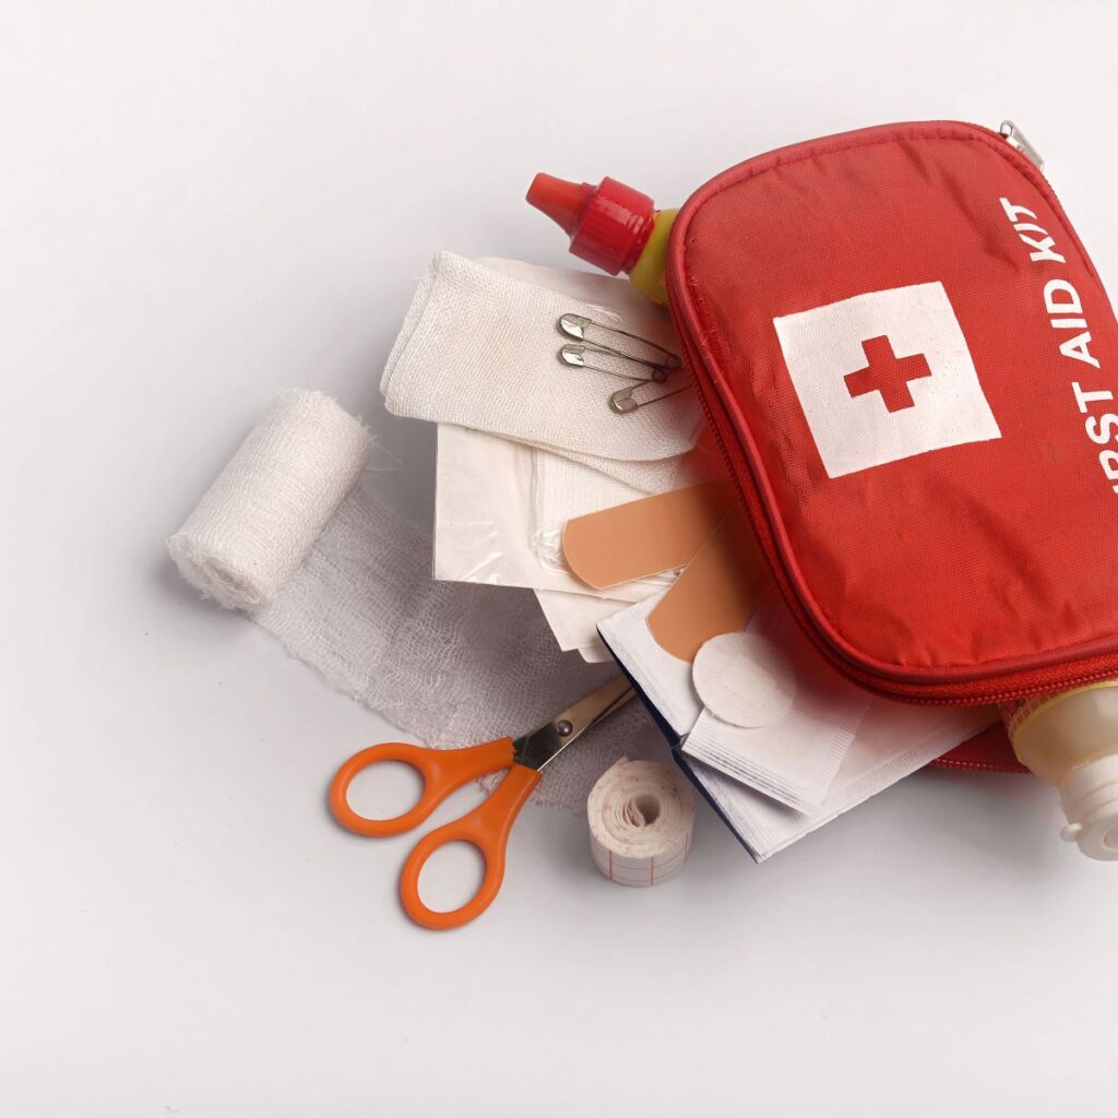
[(764, 862), (995, 720), (989, 707), (917, 707), (872, 698), (831, 790), (814, 812), (778, 804), (701, 762), (684, 764), (754, 858)]

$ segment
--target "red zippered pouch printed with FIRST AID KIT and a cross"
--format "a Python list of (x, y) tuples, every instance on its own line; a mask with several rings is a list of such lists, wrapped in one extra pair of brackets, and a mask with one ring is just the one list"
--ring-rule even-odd
[(866, 129), (681, 210), (672, 316), (774, 577), (849, 678), (985, 703), (1118, 675), (1118, 329), (1040, 170)]

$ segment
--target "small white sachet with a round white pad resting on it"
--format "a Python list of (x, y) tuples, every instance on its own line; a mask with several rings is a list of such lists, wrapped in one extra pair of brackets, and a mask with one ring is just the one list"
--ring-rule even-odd
[(812, 647), (784, 600), (708, 641), (692, 667), (702, 714), (689, 757), (798, 811), (823, 803), (870, 704)]

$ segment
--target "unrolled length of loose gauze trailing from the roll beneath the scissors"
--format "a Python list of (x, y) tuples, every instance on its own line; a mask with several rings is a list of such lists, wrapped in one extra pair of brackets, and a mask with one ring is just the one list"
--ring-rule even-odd
[[(339, 691), (438, 747), (534, 729), (617, 674), (560, 652), (531, 590), (429, 570), (430, 540), (359, 486), (256, 619)], [(652, 724), (629, 703), (549, 766), (534, 798), (582, 809), (642, 735)]]

